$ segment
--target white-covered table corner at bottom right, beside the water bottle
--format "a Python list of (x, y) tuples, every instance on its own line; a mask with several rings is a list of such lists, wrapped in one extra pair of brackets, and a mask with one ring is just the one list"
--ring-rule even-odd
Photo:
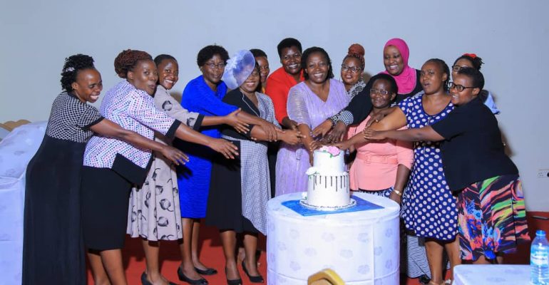
[(453, 269), (454, 285), (530, 284), (530, 265), (462, 264)]

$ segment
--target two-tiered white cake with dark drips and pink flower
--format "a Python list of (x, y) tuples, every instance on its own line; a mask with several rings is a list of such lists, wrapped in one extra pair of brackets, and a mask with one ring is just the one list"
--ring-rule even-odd
[(315, 150), (313, 166), (309, 167), (307, 175), (309, 180), (304, 204), (321, 209), (350, 204), (349, 174), (345, 171), (342, 150), (332, 146)]

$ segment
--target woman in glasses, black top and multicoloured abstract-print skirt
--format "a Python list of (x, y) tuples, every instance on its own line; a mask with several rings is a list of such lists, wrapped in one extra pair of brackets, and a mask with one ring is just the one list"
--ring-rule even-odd
[(413, 130), (368, 131), (366, 137), (443, 141), (444, 173), (458, 193), (461, 258), (498, 263), (499, 254), (515, 252), (518, 243), (530, 240), (518, 170), (503, 150), (498, 120), (478, 97), (482, 73), (461, 68), (450, 86), (458, 107), (444, 120)]

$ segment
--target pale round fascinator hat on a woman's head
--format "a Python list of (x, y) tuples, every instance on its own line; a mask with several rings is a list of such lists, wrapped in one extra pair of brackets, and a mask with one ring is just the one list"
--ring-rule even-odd
[(237, 51), (227, 61), (223, 82), (230, 89), (236, 89), (246, 81), (255, 68), (254, 55), (248, 50)]

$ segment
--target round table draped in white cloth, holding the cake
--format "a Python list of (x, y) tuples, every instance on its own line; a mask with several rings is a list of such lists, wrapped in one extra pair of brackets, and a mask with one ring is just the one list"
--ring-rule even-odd
[(270, 199), (268, 284), (307, 284), (309, 276), (327, 268), (345, 284), (399, 284), (399, 204), (354, 195), (382, 208), (302, 216), (282, 204), (302, 193)]

